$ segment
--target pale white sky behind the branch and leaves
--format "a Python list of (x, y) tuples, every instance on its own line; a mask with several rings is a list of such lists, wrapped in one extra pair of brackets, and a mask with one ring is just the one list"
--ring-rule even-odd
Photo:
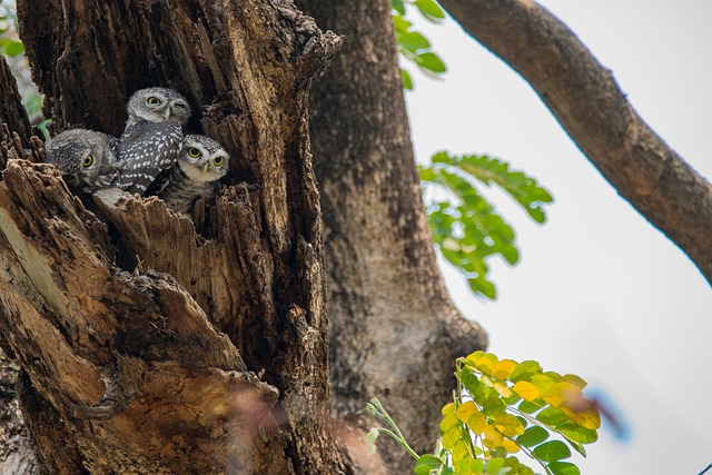
[[(543, 0), (610, 68), (644, 120), (712, 177), (712, 2)], [(555, 197), (534, 225), (506, 198), (522, 259), (492, 263), (500, 298), (483, 303), (443, 265), (462, 311), (501, 358), (536, 359), (605, 390), (632, 426), (602, 432), (584, 475), (696, 475), (712, 463), (712, 291), (690, 259), (590, 165), (530, 86), (452, 20), (418, 22), (449, 72), (414, 75), (408, 93), (419, 160), (488, 152)], [(414, 68), (408, 68), (412, 72)]]

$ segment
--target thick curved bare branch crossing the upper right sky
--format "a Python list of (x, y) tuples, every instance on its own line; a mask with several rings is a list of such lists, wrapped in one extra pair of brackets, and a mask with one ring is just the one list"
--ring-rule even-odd
[(442, 0), (536, 90), (611, 185), (712, 283), (712, 187), (641, 119), (576, 36), (531, 0)]

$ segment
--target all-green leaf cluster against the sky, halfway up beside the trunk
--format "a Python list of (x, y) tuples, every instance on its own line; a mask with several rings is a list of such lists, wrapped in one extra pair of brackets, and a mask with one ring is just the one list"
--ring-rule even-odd
[(427, 202), (427, 219), (438, 250), (465, 275), (475, 295), (496, 298), (485, 259), (500, 255), (514, 265), (520, 254), (514, 229), (476, 184), (497, 186), (540, 224), (546, 220), (543, 207), (553, 201), (551, 194), (535, 178), (487, 155), (438, 152), (432, 157), (432, 165), (422, 166), (419, 171), (422, 186), (446, 191), (446, 199)]

